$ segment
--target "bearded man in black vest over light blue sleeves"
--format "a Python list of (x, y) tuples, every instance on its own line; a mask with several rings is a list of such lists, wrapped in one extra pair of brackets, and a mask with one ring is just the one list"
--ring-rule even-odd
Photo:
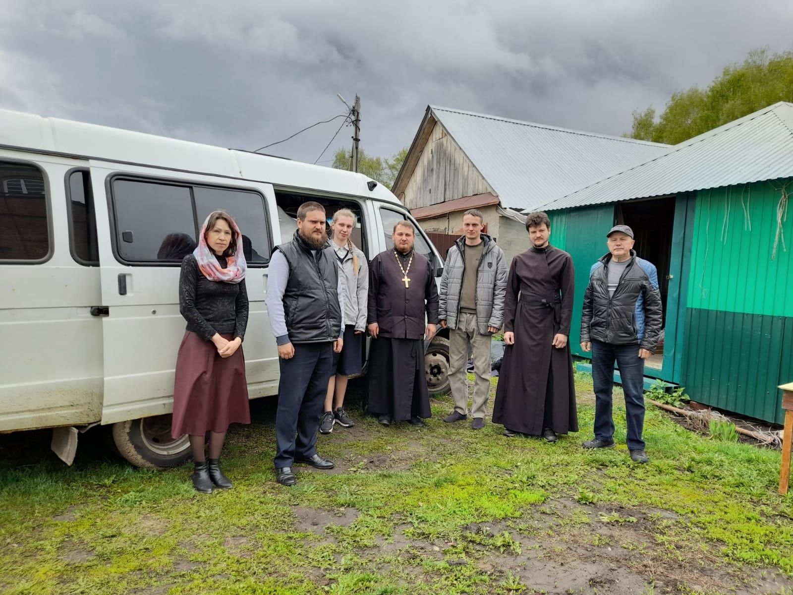
[(333, 352), (343, 347), (343, 286), (328, 244), (325, 209), (304, 202), (291, 242), (276, 248), (265, 302), (278, 343), (281, 378), (275, 417), (275, 478), (294, 486), (294, 463), (332, 469), (316, 453), (316, 432), (331, 378)]

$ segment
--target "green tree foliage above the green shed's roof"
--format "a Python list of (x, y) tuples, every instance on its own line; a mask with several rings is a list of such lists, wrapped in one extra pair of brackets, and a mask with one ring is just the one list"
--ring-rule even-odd
[(677, 91), (656, 120), (653, 107), (635, 110), (631, 138), (677, 144), (776, 102), (793, 102), (793, 52), (749, 52), (706, 89)]

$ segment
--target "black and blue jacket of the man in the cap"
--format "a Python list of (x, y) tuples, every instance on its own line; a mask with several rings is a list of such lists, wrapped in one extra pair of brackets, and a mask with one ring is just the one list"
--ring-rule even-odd
[(655, 266), (631, 250), (630, 263), (610, 296), (610, 262), (611, 254), (603, 256), (589, 274), (581, 313), (581, 343), (596, 340), (614, 345), (638, 344), (642, 349), (655, 351), (663, 326)]

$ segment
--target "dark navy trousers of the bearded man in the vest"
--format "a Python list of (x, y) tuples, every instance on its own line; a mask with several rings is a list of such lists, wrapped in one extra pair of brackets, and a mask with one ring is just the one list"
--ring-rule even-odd
[(328, 394), (332, 343), (295, 344), (292, 359), (281, 359), (275, 414), (276, 468), (292, 466), (295, 455), (316, 455), (316, 432)]

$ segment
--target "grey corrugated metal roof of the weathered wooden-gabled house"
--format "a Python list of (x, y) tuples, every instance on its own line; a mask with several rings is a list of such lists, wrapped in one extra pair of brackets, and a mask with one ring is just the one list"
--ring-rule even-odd
[(668, 152), (668, 145), (430, 106), (511, 209), (534, 209)]

